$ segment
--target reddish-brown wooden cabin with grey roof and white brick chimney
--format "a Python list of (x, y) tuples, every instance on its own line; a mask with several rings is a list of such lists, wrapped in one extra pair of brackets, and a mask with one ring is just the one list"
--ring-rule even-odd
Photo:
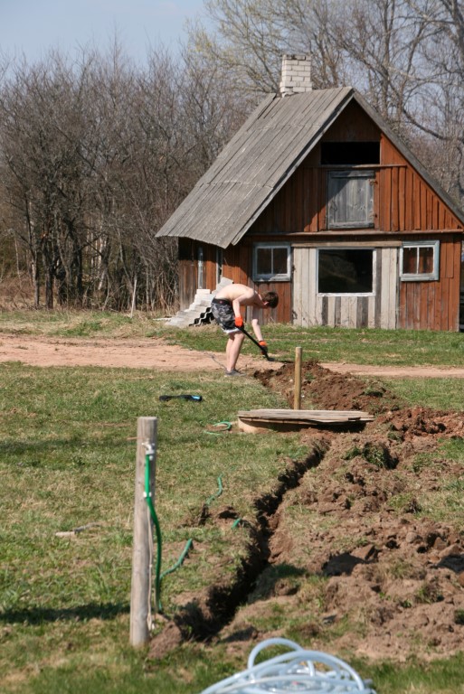
[(284, 56), (280, 93), (158, 231), (179, 239), (181, 308), (227, 277), (278, 292), (264, 320), (459, 331), (463, 211), (365, 98), (311, 89), (308, 66)]

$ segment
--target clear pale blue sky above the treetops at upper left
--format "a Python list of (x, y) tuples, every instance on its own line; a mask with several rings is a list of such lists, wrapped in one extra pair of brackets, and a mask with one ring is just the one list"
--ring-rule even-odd
[(0, 52), (33, 63), (51, 49), (104, 52), (117, 36), (128, 57), (143, 62), (160, 43), (175, 52), (185, 20), (203, 9), (203, 0), (0, 0)]

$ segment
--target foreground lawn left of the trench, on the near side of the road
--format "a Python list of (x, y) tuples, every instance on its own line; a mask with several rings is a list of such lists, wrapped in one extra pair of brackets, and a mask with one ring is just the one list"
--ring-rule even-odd
[[(232, 521), (223, 530), (198, 525), (204, 502), (216, 503), (218, 477), (220, 503), (246, 519), (256, 490), (269, 488), (287, 455), (302, 455), (296, 435), (211, 436), (207, 426), (234, 420), (243, 406), (281, 403), (255, 381), (215, 375), (7, 363), (0, 380), (2, 692), (146, 691), (147, 678), (156, 691), (203, 687), (205, 666), (194, 683), (169, 689), (184, 660), (201, 671), (191, 649), (148, 674), (143, 655), (128, 648), (137, 417), (158, 418), (163, 568), (194, 540), (182, 571), (163, 582), (166, 614), (175, 614), (178, 596), (208, 586), (218, 562), (232, 571), (245, 549), (246, 536)], [(166, 392), (200, 393), (203, 401), (159, 402)], [(56, 536), (89, 523), (95, 525), (71, 539)], [(220, 672), (210, 668), (208, 681)]]

